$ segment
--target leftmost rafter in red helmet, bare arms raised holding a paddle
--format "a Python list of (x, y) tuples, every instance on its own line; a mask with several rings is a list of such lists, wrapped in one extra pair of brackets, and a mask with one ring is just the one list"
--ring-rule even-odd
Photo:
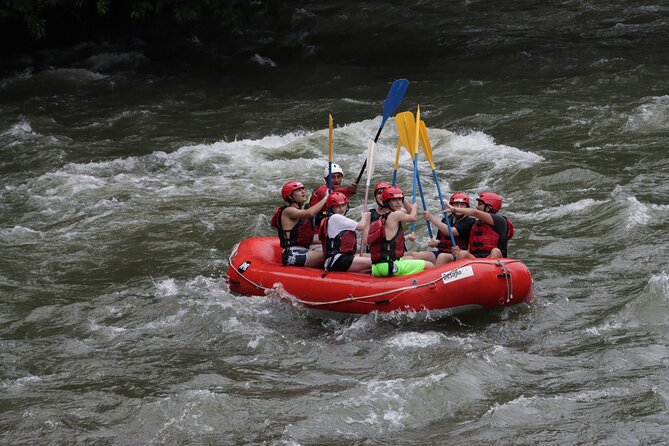
[(272, 217), (272, 226), (279, 232), (283, 252), (281, 261), (290, 266), (323, 265), (323, 253), (309, 250), (314, 240), (313, 216), (325, 206), (327, 195), (309, 209), (302, 209), (307, 201), (304, 185), (299, 181), (289, 181), (281, 188), (285, 205), (277, 208)]

